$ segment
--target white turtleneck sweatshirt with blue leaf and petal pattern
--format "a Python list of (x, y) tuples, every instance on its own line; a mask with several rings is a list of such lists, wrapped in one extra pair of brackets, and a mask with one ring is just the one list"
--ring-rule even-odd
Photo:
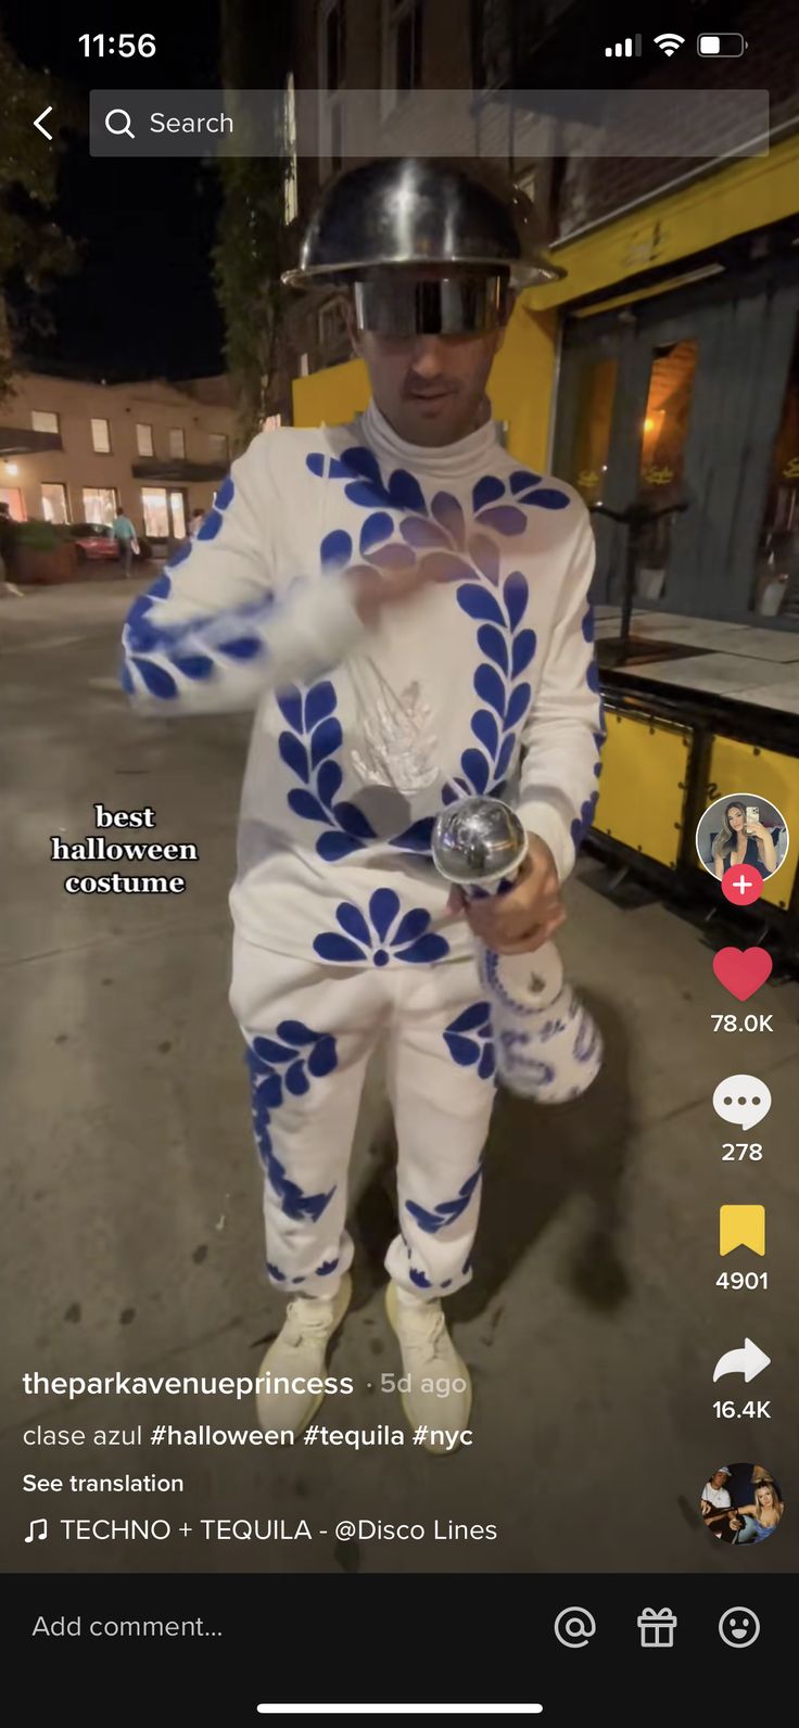
[[(367, 629), (341, 572), (422, 560), (432, 581)], [(156, 715), (254, 708), (235, 928), (311, 962), (472, 950), (431, 861), (436, 814), (505, 798), (564, 880), (604, 741), (593, 534), (498, 425), (444, 448), (351, 425), (261, 432), (123, 632), (123, 688)]]

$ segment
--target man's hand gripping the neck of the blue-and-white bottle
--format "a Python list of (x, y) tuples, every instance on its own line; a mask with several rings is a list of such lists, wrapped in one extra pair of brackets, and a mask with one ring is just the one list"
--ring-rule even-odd
[(457, 886), (450, 893), (450, 911), (463, 912), (469, 928), (495, 954), (534, 954), (566, 919), (555, 859), (538, 835), (527, 840), (527, 857), (508, 893), (486, 900), (467, 900)]

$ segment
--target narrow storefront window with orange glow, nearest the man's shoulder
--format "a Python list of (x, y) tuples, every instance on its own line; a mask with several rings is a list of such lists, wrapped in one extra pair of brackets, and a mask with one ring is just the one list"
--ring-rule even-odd
[[(652, 358), (640, 461), (640, 501), (650, 510), (678, 503), (683, 492), (697, 358), (697, 342), (666, 342)], [(662, 515), (642, 532), (635, 591), (643, 601), (662, 598), (674, 520)]]

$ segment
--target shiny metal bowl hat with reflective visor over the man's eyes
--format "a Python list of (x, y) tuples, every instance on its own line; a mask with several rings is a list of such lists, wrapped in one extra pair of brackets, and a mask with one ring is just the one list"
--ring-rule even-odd
[(311, 213), (291, 287), (353, 285), (360, 328), (476, 332), (508, 285), (557, 282), (531, 200), (486, 164), (391, 157), (341, 173)]

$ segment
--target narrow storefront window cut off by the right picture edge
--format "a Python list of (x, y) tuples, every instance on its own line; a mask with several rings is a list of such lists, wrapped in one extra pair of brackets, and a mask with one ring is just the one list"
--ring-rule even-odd
[(771, 454), (751, 610), (799, 620), (799, 327)]

